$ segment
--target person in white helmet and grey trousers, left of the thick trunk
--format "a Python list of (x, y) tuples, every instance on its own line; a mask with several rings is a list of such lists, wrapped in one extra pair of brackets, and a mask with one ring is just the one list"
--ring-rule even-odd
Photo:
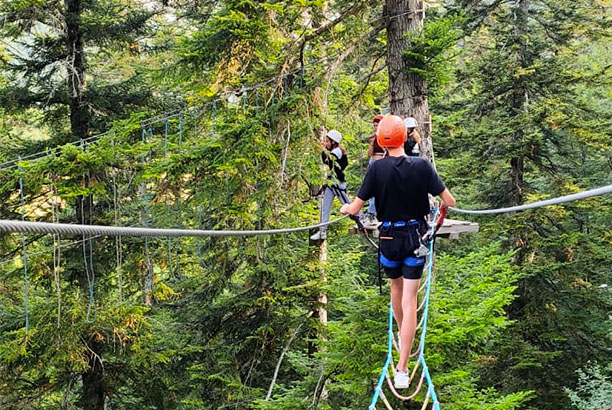
[[(334, 203), (334, 198), (338, 198), (341, 204), (351, 202), (346, 193), (346, 179), (344, 169), (348, 165), (346, 149), (340, 143), (342, 142), (342, 134), (336, 130), (330, 130), (323, 140), (323, 147), (326, 151), (321, 153), (323, 163), (329, 167), (331, 172), (328, 175), (328, 184), (323, 192), (323, 204), (321, 205), (321, 222), (329, 221), (331, 207)], [(329, 151), (329, 153), (327, 152)], [(359, 213), (356, 220), (362, 220), (363, 214)], [(360, 224), (360, 223), (359, 223)], [(327, 238), (327, 226), (323, 226), (313, 234), (310, 239), (313, 241), (323, 240)]]

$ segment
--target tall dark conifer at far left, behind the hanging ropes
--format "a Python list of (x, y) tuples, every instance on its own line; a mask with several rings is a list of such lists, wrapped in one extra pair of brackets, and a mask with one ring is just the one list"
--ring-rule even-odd
[[(145, 45), (144, 36), (149, 32), (149, 22), (155, 15), (151, 6), (152, 3), (135, 4), (122, 0), (26, 0), (1, 3), (0, 18), (3, 26), (0, 35), (5, 44), (1, 68), (6, 73), (7, 81), (0, 88), (0, 105), (11, 113), (28, 109), (43, 113), (40, 127), (46, 126), (50, 137), (38, 143), (22, 139), (21, 147), (16, 147), (13, 155), (40, 150), (45, 145), (78, 142), (105, 130), (112, 120), (126, 116), (130, 110), (148, 102), (150, 92), (142, 83), (138, 69), (134, 67), (126, 70), (118, 66), (116, 61), (129, 58), (131, 53), (138, 53), (139, 47)], [(74, 156), (72, 159), (75, 159)], [(102, 203), (94, 204), (93, 196), (96, 185), (99, 186), (104, 178), (102, 169), (91, 166), (91, 163), (76, 165), (71, 162), (68, 160), (70, 165), (64, 168), (43, 170), (42, 178), (24, 178), (29, 189), (26, 200), (37, 205), (37, 188), (44, 195), (50, 186), (63, 178), (68, 182), (68, 192), (61, 195), (68, 199), (67, 204), (73, 205), (73, 208), (65, 206), (60, 218), (76, 219), (79, 223), (104, 220), (103, 215), (94, 215), (96, 210), (99, 212), (105, 207), (101, 206)], [(39, 165), (51, 164), (43, 162)], [(77, 170), (71, 168), (72, 165), (83, 167)], [(50, 174), (60, 177), (52, 175), (47, 178)], [(80, 189), (77, 188), (79, 181)], [(45, 218), (47, 216), (44, 215)], [(58, 292), (62, 286), (74, 290), (74, 285), (77, 285), (77, 295), (80, 292), (93, 295), (92, 278), (95, 272), (104, 270), (103, 266), (108, 261), (96, 258), (91, 242), (85, 241), (85, 238), (83, 241), (85, 269), (78, 263), (79, 249), (65, 252), (64, 257), (68, 262), (63, 278), (58, 280)], [(78, 312), (78, 300), (79, 297), (76, 301), (69, 298), (64, 300), (67, 305), (65, 311), (72, 308)], [(34, 314), (39, 314), (36, 312), (40, 312), (44, 304), (34, 304)], [(133, 305), (119, 308), (120, 305), (115, 304), (101, 311), (97, 323), (93, 324), (91, 317), (94, 313), (90, 312), (92, 304), (90, 301), (86, 319), (75, 313), (78, 319), (74, 319), (77, 323), (72, 324), (74, 333), (64, 333), (69, 322), (60, 317), (59, 306), (57, 328), (53, 326), (54, 321), (45, 320), (45, 316), (38, 316), (39, 320), (34, 323), (30, 334), (26, 328), (22, 341), (25, 349), (23, 356), (16, 355), (8, 360), (13, 364), (21, 363), (21, 370), (11, 376), (13, 381), (10, 387), (7, 386), (4, 395), (7, 403), (12, 403), (15, 408), (27, 406), (31, 401), (45, 406), (53, 402), (57, 397), (54, 395), (59, 394), (65, 395), (65, 402), (71, 402), (69, 397), (78, 377), (81, 388), (75, 401), (81, 408), (105, 408), (117, 372), (112, 370), (112, 366), (109, 368), (105, 365), (108, 359), (106, 353), (112, 351), (112, 346), (108, 344), (109, 340), (103, 336), (105, 331), (101, 329), (110, 326), (118, 331), (122, 327), (120, 323), (129, 317), (135, 321), (133, 323), (138, 323), (143, 320), (143, 310)], [(11, 321), (9, 326), (12, 328), (17, 323)], [(124, 330), (131, 332), (133, 329), (129, 328), (130, 325)], [(36, 346), (28, 345), (29, 337), (36, 341), (32, 342)], [(18, 340), (21, 338), (17, 334), (14, 339), (4, 338), (3, 347)], [(62, 352), (46, 363), (48, 367), (45, 371), (37, 371), (37, 363), (54, 349)], [(5, 370), (2, 369), (2, 373), (7, 376), (10, 372)], [(37, 386), (52, 393), (38, 400), (36, 395), (25, 392), (28, 386)]]

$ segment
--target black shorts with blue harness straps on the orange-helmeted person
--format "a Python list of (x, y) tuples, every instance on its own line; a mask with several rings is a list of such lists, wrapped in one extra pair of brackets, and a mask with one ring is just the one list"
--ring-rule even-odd
[(425, 233), (425, 221), (383, 222), (379, 228), (380, 264), (390, 279), (420, 279), (423, 276), (425, 257), (417, 257), (414, 251), (421, 244)]

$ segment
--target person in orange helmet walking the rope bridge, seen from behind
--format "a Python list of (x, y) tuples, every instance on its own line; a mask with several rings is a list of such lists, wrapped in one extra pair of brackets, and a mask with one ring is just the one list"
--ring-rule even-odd
[(378, 127), (378, 143), (388, 155), (376, 161), (363, 180), (357, 198), (340, 212), (355, 215), (367, 198), (376, 198), (380, 226), (380, 263), (391, 280), (391, 303), (400, 333), (400, 359), (394, 384), (409, 385), (407, 369), (417, 324), (417, 294), (425, 257), (414, 251), (427, 230), (429, 196), (440, 196), (442, 204), (454, 206), (455, 199), (431, 164), (404, 152), (406, 124), (396, 115), (385, 116)]

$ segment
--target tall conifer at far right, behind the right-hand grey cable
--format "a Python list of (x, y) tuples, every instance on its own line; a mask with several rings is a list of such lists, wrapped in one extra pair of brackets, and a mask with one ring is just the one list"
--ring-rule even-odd
[[(438, 112), (453, 124), (447, 128), (453, 135), (439, 146), (472, 168), (477, 189), (465, 191), (464, 203), (496, 208), (605, 185), (609, 117), (599, 114), (601, 100), (587, 102), (583, 93), (609, 87), (610, 77), (579, 57), (605, 36), (610, 16), (603, 3), (455, 5), (468, 36), (464, 64), (448, 89), (453, 97), (439, 102)], [(595, 72), (601, 85), (593, 82)], [(563, 386), (573, 387), (575, 371), (610, 348), (609, 300), (575, 285), (603, 281), (610, 258), (602, 240), (607, 202), (593, 202), (590, 209), (578, 204), (486, 219), (487, 238), (506, 238), (524, 278), (508, 309), (516, 325), (485, 377), (511, 390), (534, 390), (538, 408), (568, 406)]]

